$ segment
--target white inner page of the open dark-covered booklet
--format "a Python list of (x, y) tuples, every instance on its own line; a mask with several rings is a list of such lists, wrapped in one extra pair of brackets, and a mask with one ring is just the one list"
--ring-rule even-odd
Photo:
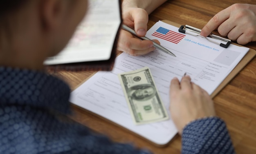
[(68, 45), (44, 64), (108, 60), (120, 23), (119, 0), (89, 0), (86, 16)]

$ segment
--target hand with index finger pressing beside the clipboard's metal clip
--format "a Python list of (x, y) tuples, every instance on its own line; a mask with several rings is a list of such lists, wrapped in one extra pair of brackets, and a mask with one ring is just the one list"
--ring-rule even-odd
[(256, 5), (231, 5), (213, 16), (202, 28), (201, 35), (206, 37), (217, 28), (220, 35), (238, 44), (256, 41)]

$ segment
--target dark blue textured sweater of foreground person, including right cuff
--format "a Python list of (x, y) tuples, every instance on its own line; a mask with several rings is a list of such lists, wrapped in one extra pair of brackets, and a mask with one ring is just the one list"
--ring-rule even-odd
[[(69, 96), (58, 78), (0, 67), (0, 154), (150, 154), (59, 120), (56, 113), (70, 113)], [(225, 123), (217, 117), (191, 122), (182, 154), (234, 154)]]

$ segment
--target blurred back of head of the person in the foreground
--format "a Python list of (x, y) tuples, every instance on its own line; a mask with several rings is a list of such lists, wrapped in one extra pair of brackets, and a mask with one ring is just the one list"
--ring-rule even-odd
[(87, 0), (1, 0), (0, 66), (43, 69), (85, 16)]

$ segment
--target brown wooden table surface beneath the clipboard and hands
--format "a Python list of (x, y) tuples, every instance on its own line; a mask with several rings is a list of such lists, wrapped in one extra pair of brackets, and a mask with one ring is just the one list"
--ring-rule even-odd
[[(236, 3), (256, 4), (253, 0)], [(202, 27), (219, 11), (233, 4), (233, 0), (168, 0), (149, 16), (148, 28), (158, 20), (170, 20), (180, 25)], [(256, 42), (245, 45), (256, 49)], [(67, 72), (54, 74), (70, 84), (74, 89), (93, 71)], [(235, 150), (238, 154), (256, 154), (256, 58), (254, 58), (231, 82), (213, 99), (216, 113), (227, 123)], [(178, 154), (181, 137), (175, 138), (165, 147), (156, 147), (130, 131), (103, 120), (78, 107), (73, 107), (75, 121), (91, 129), (106, 134), (112, 140), (134, 143), (137, 147), (147, 148), (156, 154)]]

